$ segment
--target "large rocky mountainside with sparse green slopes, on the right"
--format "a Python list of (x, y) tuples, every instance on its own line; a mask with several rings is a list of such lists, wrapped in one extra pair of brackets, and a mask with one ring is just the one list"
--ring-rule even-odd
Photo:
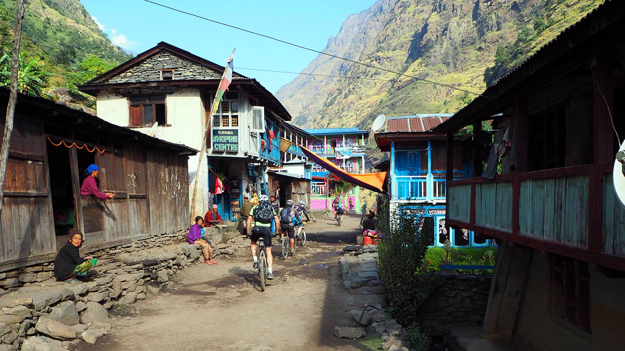
[[(302, 73), (346, 78), (301, 74), (276, 96), (299, 127), (366, 129), (379, 114), (455, 112), (602, 2), (379, 0), (347, 17), (324, 51), (447, 86), (320, 54)], [(375, 143), (367, 149), (375, 162)]]

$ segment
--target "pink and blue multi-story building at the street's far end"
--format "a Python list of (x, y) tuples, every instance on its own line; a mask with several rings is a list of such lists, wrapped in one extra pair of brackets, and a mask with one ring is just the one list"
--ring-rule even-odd
[[(314, 154), (326, 157), (342, 170), (362, 174), (364, 170), (364, 141), (368, 131), (352, 128), (306, 129), (311, 136), (306, 141), (307, 148)], [(334, 179), (326, 169), (312, 165), (311, 209), (331, 209), (332, 201), (339, 195), (349, 209), (349, 200), (354, 210), (359, 210), (360, 188), (349, 186), (346, 191), (337, 191), (340, 180)]]

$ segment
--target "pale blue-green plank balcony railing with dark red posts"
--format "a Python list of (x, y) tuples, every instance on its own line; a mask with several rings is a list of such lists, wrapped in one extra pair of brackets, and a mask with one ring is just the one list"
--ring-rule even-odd
[(447, 223), (625, 270), (625, 210), (609, 164), (455, 180)]

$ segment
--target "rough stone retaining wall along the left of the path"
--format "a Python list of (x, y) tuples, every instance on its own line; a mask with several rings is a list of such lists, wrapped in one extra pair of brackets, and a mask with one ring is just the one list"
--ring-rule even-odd
[[(0, 274), (0, 351), (20, 344), (22, 350), (63, 350), (59, 340), (93, 344), (111, 329), (108, 309), (145, 299), (148, 290), (158, 291), (178, 270), (203, 261), (199, 245), (189, 245), (186, 235), (179, 231), (92, 252), (99, 259), (89, 272), (95, 275), (81, 284), (57, 282), (53, 262)], [(244, 249), (226, 242), (237, 235), (209, 230), (214, 254)]]

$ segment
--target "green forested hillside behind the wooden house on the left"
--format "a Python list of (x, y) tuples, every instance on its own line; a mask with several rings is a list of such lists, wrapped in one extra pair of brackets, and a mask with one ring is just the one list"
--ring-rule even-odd
[[(93, 106), (93, 99), (79, 93), (76, 84), (132, 56), (111, 43), (79, 0), (34, 0), (24, 4), (20, 90), (59, 99), (53, 90), (64, 87), (65, 91), (69, 90), (71, 101)], [(9, 85), (16, 17), (16, 2), (0, 0), (0, 85), (3, 86)]]

